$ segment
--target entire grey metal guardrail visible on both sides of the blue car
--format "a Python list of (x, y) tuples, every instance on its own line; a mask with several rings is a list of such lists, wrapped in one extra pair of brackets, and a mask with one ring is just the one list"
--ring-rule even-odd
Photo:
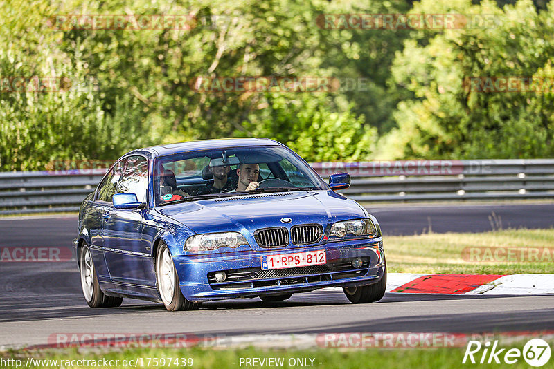
[[(327, 178), (352, 176), (339, 191), (363, 202), (554, 198), (554, 159), (312, 163)], [(105, 169), (0, 173), (0, 214), (78, 211)]]

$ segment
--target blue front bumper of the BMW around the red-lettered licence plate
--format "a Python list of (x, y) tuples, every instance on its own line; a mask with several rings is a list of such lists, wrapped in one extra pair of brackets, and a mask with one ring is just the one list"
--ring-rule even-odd
[[(261, 270), (261, 256), (319, 250), (325, 250), (325, 265)], [(354, 258), (362, 258), (362, 267), (355, 269), (351, 266)], [(189, 301), (370, 285), (381, 280), (386, 268), (381, 238), (264, 252), (173, 256), (173, 260), (179, 274), (181, 291)], [(217, 271), (226, 271), (232, 276), (231, 281), (217, 283), (213, 278), (213, 273)]]

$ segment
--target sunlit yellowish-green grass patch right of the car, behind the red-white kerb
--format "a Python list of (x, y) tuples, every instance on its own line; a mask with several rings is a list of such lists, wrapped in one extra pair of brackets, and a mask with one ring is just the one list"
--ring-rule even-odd
[(470, 262), (465, 247), (554, 247), (554, 229), (507, 229), (480, 234), (385, 236), (389, 272), (452, 274), (554, 273), (552, 262)]

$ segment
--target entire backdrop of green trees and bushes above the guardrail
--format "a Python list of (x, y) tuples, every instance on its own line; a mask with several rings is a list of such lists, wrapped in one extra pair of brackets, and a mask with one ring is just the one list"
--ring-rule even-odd
[[(471, 76), (551, 77), (544, 1), (195, 0), (0, 2), (0, 171), (115, 160), (140, 146), (265, 136), (309, 161), (553, 154), (552, 93), (467, 91)], [(412, 4), (413, 3), (413, 4)], [(505, 5), (508, 4), (508, 5)], [(537, 8), (542, 9), (537, 12)], [(325, 29), (323, 14), (496, 15), (488, 28)], [(190, 15), (190, 29), (57, 28), (55, 15)], [(367, 88), (199, 91), (197, 77), (365, 78)], [(377, 145), (377, 138), (379, 137)], [(378, 149), (377, 149), (378, 148)]]

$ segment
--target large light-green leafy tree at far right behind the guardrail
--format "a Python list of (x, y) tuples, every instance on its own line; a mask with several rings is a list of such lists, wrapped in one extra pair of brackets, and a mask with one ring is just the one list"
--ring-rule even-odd
[[(496, 26), (420, 32), (404, 43), (392, 68), (395, 83), (413, 91), (393, 113), (398, 124), (382, 138), (386, 158), (541, 158), (554, 155), (553, 94), (483, 92), (468, 77), (552, 79), (554, 12), (528, 0), (499, 10), (494, 3), (453, 1), (443, 10), (495, 15)], [(413, 12), (436, 12), (422, 1)], [(425, 44), (422, 40), (425, 39)]]

